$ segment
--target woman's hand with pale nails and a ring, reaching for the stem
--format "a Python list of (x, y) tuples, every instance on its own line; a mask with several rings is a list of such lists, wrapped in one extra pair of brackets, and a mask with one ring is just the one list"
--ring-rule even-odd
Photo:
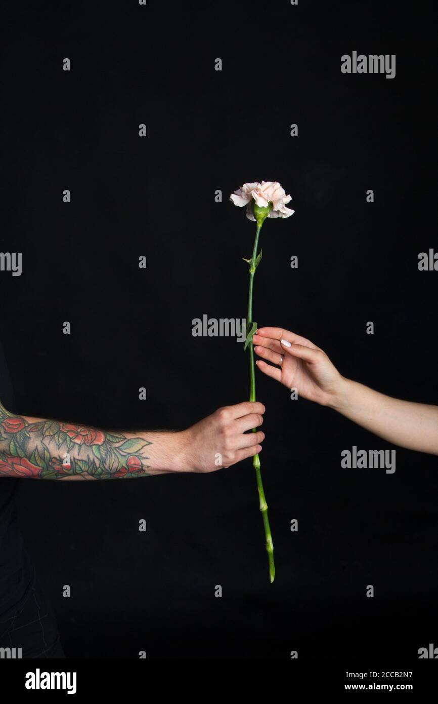
[(288, 389), (297, 389), (298, 395), (316, 401), (321, 406), (335, 406), (344, 379), (319, 347), (305, 337), (280, 327), (260, 327), (252, 344), (257, 356), (279, 365), (273, 367), (257, 360), (259, 370), (276, 379)]

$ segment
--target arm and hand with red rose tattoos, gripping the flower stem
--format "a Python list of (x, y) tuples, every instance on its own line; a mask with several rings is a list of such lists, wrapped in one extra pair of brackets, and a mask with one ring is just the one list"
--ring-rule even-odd
[(219, 408), (181, 432), (113, 432), (9, 413), (0, 403), (0, 477), (119, 479), (214, 472), (252, 457), (262, 403)]

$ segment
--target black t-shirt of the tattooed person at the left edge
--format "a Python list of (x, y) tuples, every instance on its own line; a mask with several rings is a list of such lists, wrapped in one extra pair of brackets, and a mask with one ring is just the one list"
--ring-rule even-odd
[[(15, 413), (15, 398), (0, 344), (0, 401)], [(0, 622), (20, 608), (34, 581), (34, 569), (18, 527), (15, 492), (19, 479), (0, 477)]]

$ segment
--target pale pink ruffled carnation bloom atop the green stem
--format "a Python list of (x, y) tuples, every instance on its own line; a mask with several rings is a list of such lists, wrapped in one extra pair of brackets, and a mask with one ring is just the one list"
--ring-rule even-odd
[(286, 196), (285, 190), (277, 181), (262, 181), (259, 183), (244, 183), (241, 188), (234, 191), (230, 196), (235, 206), (246, 208), (246, 216), (249, 220), (256, 220), (252, 207), (256, 203), (259, 208), (266, 208), (272, 203), (268, 218), (290, 218), (295, 210), (286, 208), (286, 203), (292, 200), (292, 196)]

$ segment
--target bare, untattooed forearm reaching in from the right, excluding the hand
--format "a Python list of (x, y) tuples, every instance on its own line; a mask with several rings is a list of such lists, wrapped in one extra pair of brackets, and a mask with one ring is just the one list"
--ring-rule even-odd
[(344, 378), (328, 406), (394, 445), (438, 455), (438, 406), (401, 401)]

